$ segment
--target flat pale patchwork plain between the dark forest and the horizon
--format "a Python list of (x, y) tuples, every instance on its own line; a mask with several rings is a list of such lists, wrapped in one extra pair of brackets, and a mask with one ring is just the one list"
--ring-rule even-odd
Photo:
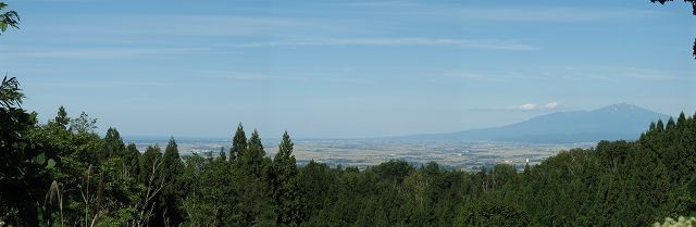
[[(166, 144), (165, 139), (133, 139), (138, 150), (148, 146)], [(265, 141), (271, 141), (266, 139)], [(221, 149), (228, 151), (232, 143), (226, 139), (185, 138), (177, 140), (183, 156), (212, 152), (216, 156)], [(415, 166), (436, 162), (453, 169), (475, 172), (497, 163), (524, 168), (535, 165), (560, 151), (573, 148), (591, 148), (595, 143), (511, 143), (511, 142), (451, 142), (380, 139), (299, 139), (295, 141), (294, 154), (299, 165), (314, 160), (330, 166), (356, 166), (364, 169), (389, 160), (405, 160)], [(277, 143), (264, 142), (266, 155), (277, 152)]]

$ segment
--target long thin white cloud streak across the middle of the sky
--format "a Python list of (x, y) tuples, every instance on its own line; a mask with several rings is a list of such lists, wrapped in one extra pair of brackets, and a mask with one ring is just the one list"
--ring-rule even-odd
[(325, 38), (294, 41), (265, 41), (247, 43), (227, 43), (221, 47), (258, 48), (284, 46), (450, 46), (460, 48), (480, 48), (492, 50), (529, 51), (538, 48), (509, 40), (449, 39), (449, 38)]

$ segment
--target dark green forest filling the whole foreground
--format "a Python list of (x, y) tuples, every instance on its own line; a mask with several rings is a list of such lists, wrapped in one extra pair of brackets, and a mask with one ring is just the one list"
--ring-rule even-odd
[(0, 224), (7, 226), (648, 226), (696, 211), (696, 115), (636, 141), (477, 173), (394, 160), (365, 171), (298, 166), (285, 133), (265, 154), (239, 125), (229, 150), (138, 151), (60, 108), (47, 123), (0, 86)]

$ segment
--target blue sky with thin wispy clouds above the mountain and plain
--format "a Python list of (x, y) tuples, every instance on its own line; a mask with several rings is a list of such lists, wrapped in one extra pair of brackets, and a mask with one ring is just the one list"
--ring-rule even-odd
[(365, 138), (627, 102), (696, 111), (691, 5), (612, 1), (4, 0), (0, 73), (126, 136)]

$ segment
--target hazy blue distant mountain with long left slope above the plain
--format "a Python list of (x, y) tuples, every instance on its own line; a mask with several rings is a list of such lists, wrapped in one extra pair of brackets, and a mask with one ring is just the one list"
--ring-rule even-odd
[(470, 129), (449, 134), (398, 137), (403, 140), (499, 141), (530, 143), (596, 142), (635, 140), (651, 122), (670, 116), (627, 103), (593, 111), (558, 112), (502, 127)]

